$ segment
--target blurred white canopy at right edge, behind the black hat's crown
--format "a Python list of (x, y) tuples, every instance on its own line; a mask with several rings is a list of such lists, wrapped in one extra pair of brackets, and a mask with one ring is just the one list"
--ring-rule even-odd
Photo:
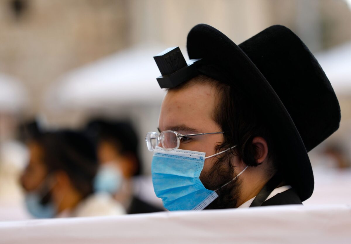
[(336, 94), (351, 95), (351, 42), (316, 54)]

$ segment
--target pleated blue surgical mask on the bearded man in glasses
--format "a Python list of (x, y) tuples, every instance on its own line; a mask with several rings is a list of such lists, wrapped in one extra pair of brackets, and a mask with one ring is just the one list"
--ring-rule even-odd
[[(229, 149), (205, 157), (206, 153), (198, 151), (165, 150), (156, 147), (151, 165), (152, 183), (155, 194), (162, 198), (164, 207), (170, 211), (202, 210), (213, 202), (218, 197), (216, 193), (218, 189), (206, 189), (199, 176), (206, 158), (219, 155), (227, 150)], [(230, 182), (246, 169), (247, 166)]]

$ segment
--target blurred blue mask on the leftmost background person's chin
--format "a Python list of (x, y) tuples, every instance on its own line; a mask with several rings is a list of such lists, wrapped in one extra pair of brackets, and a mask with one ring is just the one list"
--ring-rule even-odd
[[(45, 182), (45, 181), (44, 181)], [(41, 183), (37, 189), (42, 188)], [(47, 192), (45, 192), (44, 196), (48, 194), (51, 189), (48, 188)], [(41, 192), (42, 193), (42, 192)], [(39, 193), (39, 190), (31, 191), (26, 193), (25, 195), (25, 204), (28, 212), (33, 215), (35, 218), (53, 218), (57, 213), (57, 207), (52, 203), (48, 202), (45, 205), (41, 203), (43, 196)]]

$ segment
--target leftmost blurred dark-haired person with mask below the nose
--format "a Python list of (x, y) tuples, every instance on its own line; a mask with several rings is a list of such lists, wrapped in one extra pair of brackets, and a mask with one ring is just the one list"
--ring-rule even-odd
[(94, 194), (98, 162), (93, 144), (83, 133), (42, 133), (33, 126), (30, 134), (30, 159), (20, 181), (31, 215), (52, 218), (125, 213), (110, 195)]

